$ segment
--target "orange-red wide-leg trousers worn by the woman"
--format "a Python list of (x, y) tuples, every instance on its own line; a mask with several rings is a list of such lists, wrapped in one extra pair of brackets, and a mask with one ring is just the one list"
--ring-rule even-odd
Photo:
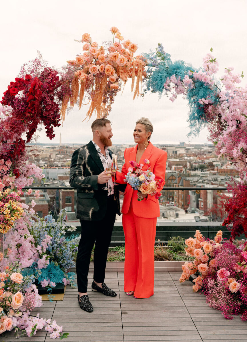
[(123, 214), (124, 291), (134, 291), (137, 298), (148, 298), (153, 295), (156, 222), (157, 218), (136, 216), (133, 213), (132, 201), (128, 213)]

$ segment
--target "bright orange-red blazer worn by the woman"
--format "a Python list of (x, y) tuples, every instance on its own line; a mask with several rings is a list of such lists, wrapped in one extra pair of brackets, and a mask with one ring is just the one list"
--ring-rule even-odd
[[(125, 184), (125, 175), (128, 173), (128, 168), (131, 167), (129, 162), (131, 160), (136, 160), (136, 152), (137, 145), (135, 147), (129, 147), (125, 149), (125, 163), (122, 167), (121, 172), (116, 172), (117, 183)], [(155, 174), (155, 178), (163, 179), (163, 182), (161, 183), (161, 188), (158, 190), (160, 192), (165, 184), (165, 167), (167, 160), (167, 152), (158, 147), (153, 146), (153, 144), (149, 142), (148, 147), (145, 149), (139, 161), (140, 164), (144, 164), (143, 170), (145, 171), (148, 169), (148, 165), (144, 163), (144, 159), (149, 160), (150, 169)], [(155, 218), (160, 216), (160, 206), (158, 199), (156, 199), (155, 196), (148, 195), (142, 201), (138, 201), (137, 190), (134, 190), (129, 184), (127, 184), (124, 192), (124, 200), (122, 207), (123, 214), (127, 214), (129, 210), (129, 205), (131, 203), (131, 199), (133, 203), (133, 212), (135, 215), (144, 218)]]

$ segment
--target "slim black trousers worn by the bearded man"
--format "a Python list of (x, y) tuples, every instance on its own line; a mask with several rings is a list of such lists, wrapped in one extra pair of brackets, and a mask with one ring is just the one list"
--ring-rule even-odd
[(94, 249), (94, 280), (104, 282), (108, 248), (116, 218), (114, 196), (108, 196), (107, 211), (100, 221), (81, 220), (81, 240), (76, 258), (78, 292), (87, 292), (87, 276), (91, 252)]

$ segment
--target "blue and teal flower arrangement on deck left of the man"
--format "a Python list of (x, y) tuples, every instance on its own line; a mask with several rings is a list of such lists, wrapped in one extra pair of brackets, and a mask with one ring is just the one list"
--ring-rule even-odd
[(38, 282), (49, 279), (50, 282), (64, 282), (74, 286), (75, 273), (69, 270), (75, 264), (79, 238), (65, 239), (66, 231), (76, 229), (65, 226), (66, 213), (66, 209), (62, 209), (57, 222), (50, 213), (44, 219), (37, 216), (37, 221), (33, 220), (28, 228), (39, 252), (39, 260), (23, 272), (31, 275), (38, 269)]

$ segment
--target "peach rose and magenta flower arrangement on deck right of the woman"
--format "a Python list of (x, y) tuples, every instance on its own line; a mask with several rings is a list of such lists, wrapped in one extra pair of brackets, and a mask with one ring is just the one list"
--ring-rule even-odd
[(210, 307), (220, 310), (226, 319), (241, 314), (241, 319), (247, 320), (247, 252), (243, 246), (223, 241), (222, 231), (210, 240), (198, 230), (185, 245), (186, 255), (195, 259), (182, 266), (180, 282), (196, 273), (193, 290), (201, 290)]

